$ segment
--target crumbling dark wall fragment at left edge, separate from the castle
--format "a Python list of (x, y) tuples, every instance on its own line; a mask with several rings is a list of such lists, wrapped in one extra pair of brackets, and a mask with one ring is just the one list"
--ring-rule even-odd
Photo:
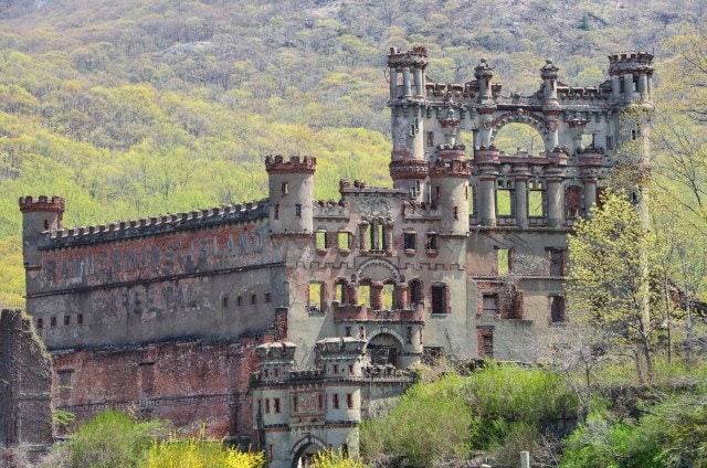
[(30, 319), (1, 310), (0, 448), (39, 451), (53, 443), (51, 392), (51, 361)]

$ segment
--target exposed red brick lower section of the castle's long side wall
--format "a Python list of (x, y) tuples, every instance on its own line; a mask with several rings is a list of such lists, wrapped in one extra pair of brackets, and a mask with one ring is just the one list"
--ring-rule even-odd
[[(170, 419), (178, 430), (209, 437), (252, 429), (250, 374), (256, 345), (270, 334), (235, 342), (172, 342), (54, 355), (55, 406), (88, 419), (107, 407), (135, 408), (143, 417)], [(65, 386), (70, 386), (66, 389)]]

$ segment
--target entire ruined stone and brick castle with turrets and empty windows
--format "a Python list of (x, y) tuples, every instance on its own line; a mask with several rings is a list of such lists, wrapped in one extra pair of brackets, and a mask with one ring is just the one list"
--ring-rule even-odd
[[(63, 199), (22, 198), (55, 406), (207, 422), (296, 466), (318, 447), (355, 451), (362, 413), (420, 361), (535, 361), (568, 319), (566, 236), (616, 148), (644, 138), (622, 115), (652, 107), (652, 59), (611, 55), (598, 87), (562, 84), (548, 61), (520, 96), (485, 60), (439, 84), (424, 47), (391, 49), (393, 188), (342, 180), (337, 202), (314, 200), (309, 156), (267, 157), (265, 200), (190, 213), (65, 228)], [(544, 150), (498, 150), (507, 124)]]

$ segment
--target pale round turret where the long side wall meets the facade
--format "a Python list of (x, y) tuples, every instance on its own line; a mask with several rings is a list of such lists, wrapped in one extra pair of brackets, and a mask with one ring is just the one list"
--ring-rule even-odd
[(265, 158), (271, 234), (312, 234), (314, 231), (314, 172), (310, 156)]

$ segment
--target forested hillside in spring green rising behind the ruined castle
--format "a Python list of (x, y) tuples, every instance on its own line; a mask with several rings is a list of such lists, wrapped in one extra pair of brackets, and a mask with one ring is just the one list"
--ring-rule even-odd
[[(229, 2), (0, 0), (0, 276), (22, 306), (27, 194), (66, 198), (66, 225), (265, 195), (263, 158), (318, 158), (388, 184), (389, 46), (424, 44), (429, 76), (464, 82), (487, 57), (505, 92), (532, 92), (546, 57), (599, 84), (605, 55), (655, 51), (707, 1)], [(659, 75), (658, 75), (659, 81)]]

